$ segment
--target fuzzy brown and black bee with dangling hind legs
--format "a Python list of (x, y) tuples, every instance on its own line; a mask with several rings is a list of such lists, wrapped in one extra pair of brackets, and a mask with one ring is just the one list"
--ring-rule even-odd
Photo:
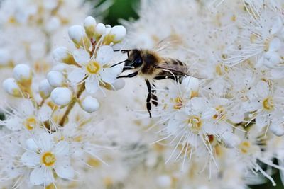
[(193, 73), (192, 71), (191, 73), (187, 65), (179, 59), (160, 56), (158, 50), (133, 49), (115, 51), (127, 53), (128, 58), (122, 62), (112, 65), (111, 67), (125, 62), (122, 72), (126, 70), (133, 71), (131, 74), (121, 75), (117, 78), (132, 78), (135, 76), (142, 76), (145, 79), (148, 88), (146, 107), (150, 118), (152, 118), (151, 103), (153, 103), (155, 106), (158, 105), (158, 98), (155, 95), (155, 84), (153, 84), (155, 80), (174, 79), (178, 82), (181, 82), (184, 76), (203, 78), (202, 76), (198, 76), (197, 72)]

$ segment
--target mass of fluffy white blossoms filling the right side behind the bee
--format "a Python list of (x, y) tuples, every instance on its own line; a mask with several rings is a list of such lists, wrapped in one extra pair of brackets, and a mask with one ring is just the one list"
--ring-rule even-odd
[[(234, 182), (231, 187), (245, 188), (264, 178), (275, 185), (272, 168), (281, 172), (284, 168), (283, 4), (156, 1), (143, 5), (142, 12), (148, 14), (127, 23), (129, 45), (154, 47), (174, 36), (182, 42), (180, 49), (164, 56), (180, 59), (190, 73), (206, 76), (155, 84), (158, 106), (149, 130), (159, 134), (153, 144), (168, 147), (158, 152), (162, 162), (170, 166), (177, 161), (192, 176), (190, 183), (209, 188), (214, 188), (212, 183), (196, 177), (204, 174), (219, 183), (226, 173), (234, 175), (216, 188), (229, 188)], [(185, 182), (184, 174), (170, 171), (168, 176), (184, 187), (194, 185)]]

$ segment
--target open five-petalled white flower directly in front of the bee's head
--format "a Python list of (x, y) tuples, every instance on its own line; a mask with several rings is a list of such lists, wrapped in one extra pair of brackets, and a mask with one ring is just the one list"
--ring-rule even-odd
[(100, 83), (113, 84), (119, 71), (121, 71), (121, 68), (108, 66), (109, 61), (114, 56), (114, 50), (110, 46), (99, 47), (95, 59), (89, 58), (89, 53), (82, 49), (75, 50), (73, 55), (77, 64), (80, 64), (81, 67), (73, 69), (68, 74), (68, 79), (73, 84), (84, 81), (88, 93), (96, 93)]

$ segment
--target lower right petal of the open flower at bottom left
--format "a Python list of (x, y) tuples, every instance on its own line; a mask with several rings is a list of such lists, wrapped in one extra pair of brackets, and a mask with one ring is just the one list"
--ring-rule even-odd
[(70, 165), (69, 161), (61, 161), (55, 164), (55, 172), (61, 178), (72, 179), (74, 178), (75, 171)]

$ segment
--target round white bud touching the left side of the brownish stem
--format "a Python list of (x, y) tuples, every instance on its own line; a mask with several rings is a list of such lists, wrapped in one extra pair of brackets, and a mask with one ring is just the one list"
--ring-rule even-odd
[(53, 89), (50, 98), (56, 105), (67, 105), (72, 100), (72, 92), (66, 87), (57, 87)]

